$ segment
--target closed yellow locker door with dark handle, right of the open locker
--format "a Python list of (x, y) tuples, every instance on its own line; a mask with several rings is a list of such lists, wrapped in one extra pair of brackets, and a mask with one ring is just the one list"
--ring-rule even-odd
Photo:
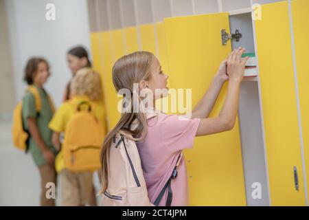
[(255, 27), (271, 205), (305, 205), (288, 1), (262, 5)]

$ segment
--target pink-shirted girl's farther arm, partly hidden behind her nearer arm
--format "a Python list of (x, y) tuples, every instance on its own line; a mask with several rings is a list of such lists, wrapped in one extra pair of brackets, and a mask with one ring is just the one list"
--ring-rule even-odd
[(203, 98), (196, 104), (191, 118), (207, 118), (220, 94), (222, 85), (229, 79), (227, 75), (227, 60), (222, 61), (216, 76), (212, 80)]

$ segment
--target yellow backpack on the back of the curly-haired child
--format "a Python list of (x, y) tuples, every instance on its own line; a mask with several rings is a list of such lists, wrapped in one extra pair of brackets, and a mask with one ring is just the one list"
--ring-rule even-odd
[[(84, 105), (88, 107), (86, 111), (82, 109)], [(103, 140), (104, 129), (91, 113), (91, 104), (80, 102), (65, 129), (62, 148), (65, 168), (75, 172), (99, 169)]]

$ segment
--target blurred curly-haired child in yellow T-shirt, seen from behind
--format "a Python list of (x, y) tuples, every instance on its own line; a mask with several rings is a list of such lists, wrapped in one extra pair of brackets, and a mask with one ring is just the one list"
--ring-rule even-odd
[[(93, 151), (90, 149), (85, 150), (86, 148), (84, 148), (84, 152), (88, 151), (89, 153), (91, 151), (92, 156), (87, 156), (87, 152), (84, 153), (83, 156), (81, 155), (82, 151), (80, 151), (80, 159), (78, 160), (75, 158), (76, 162), (92, 158), (94, 160), (98, 159), (99, 167), (96, 165), (87, 166), (86, 164), (86, 168), (76, 169), (73, 168), (73, 166), (70, 166), (70, 158), (67, 159), (65, 156), (65, 152), (68, 152), (68, 148), (70, 147), (69, 144), (67, 144), (69, 142), (67, 140), (67, 138), (69, 138), (67, 132), (68, 125), (72, 122), (74, 117), (76, 117), (76, 114), (79, 112), (78, 109), (83, 106), (85, 109), (82, 109), (82, 111), (89, 111), (95, 117), (95, 120), (98, 120), (100, 127), (97, 129), (98, 131), (92, 131), (88, 126), (89, 123), (87, 122), (85, 124), (76, 125), (76, 128), (73, 129), (78, 130), (77, 132), (81, 134), (87, 132), (90, 132), (90, 134), (102, 133), (102, 137), (104, 137), (104, 106), (102, 102), (100, 75), (97, 72), (93, 72), (93, 70), (88, 67), (80, 69), (76, 73), (76, 76), (74, 76), (70, 89), (72, 94), (71, 100), (64, 102), (60, 106), (60, 109), (56, 111), (54, 118), (52, 118), (52, 121), (49, 123), (49, 128), (54, 131), (52, 141), (57, 148), (60, 148), (60, 133), (65, 133), (65, 141), (61, 146), (61, 151), (64, 152), (65, 167), (59, 173), (62, 206), (86, 206), (91, 205), (91, 197), (93, 196), (93, 172), (100, 168), (99, 155), (102, 140), (99, 141), (99, 147), (97, 146), (98, 151), (95, 149), (93, 149)], [(76, 139), (78, 138), (79, 137), (76, 137)], [(96, 162), (88, 161), (87, 163), (91, 164)]]

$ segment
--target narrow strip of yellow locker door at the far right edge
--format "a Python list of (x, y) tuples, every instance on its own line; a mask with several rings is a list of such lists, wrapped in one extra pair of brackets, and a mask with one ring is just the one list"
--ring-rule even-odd
[[(306, 164), (307, 188), (309, 188), (309, 1), (291, 1), (295, 58), (297, 67), (297, 83), (301, 112), (301, 128), (304, 141), (304, 157)], [(309, 196), (309, 195), (308, 195)]]

